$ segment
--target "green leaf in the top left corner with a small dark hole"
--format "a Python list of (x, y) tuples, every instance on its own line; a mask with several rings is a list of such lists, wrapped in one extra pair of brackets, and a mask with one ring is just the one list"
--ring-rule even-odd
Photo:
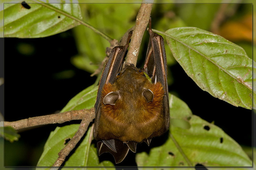
[[(22, 2), (22, 1), (20, 1)], [(19, 38), (37, 38), (54, 35), (71, 29), (80, 23), (52, 9), (58, 9), (70, 16), (82, 19), (76, 0), (58, 0), (59, 3), (44, 3), (39, 0), (27, 0), (30, 9), (21, 3), (4, 3), (4, 36)], [(48, 1), (47, 1), (48, 2)], [(49, 8), (50, 7), (50, 8)], [(0, 28), (0, 30), (3, 29)]]

